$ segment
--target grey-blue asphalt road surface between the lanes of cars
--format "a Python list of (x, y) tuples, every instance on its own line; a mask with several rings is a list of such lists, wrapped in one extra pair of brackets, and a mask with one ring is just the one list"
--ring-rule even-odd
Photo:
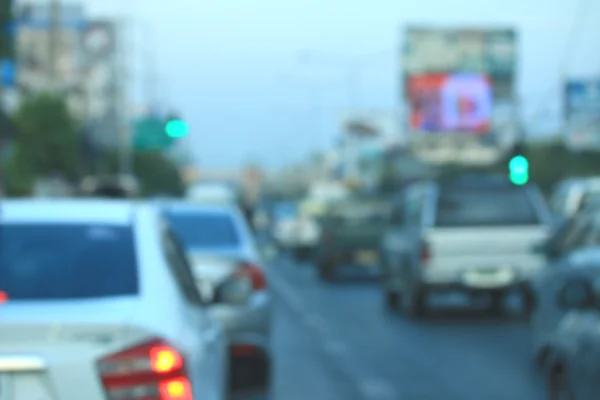
[[(300, 390), (293, 385), (307, 390), (304, 399), (318, 400), (349, 399), (340, 395), (340, 387), (361, 400), (545, 398), (523, 322), (462, 312), (410, 321), (384, 310), (376, 280), (324, 283), (310, 265), (286, 259), (271, 263), (269, 277), (278, 303), (294, 315), (287, 323), (281, 319), (279, 329), (294, 335), (294, 327), (303, 325), (323, 355), (304, 354), (308, 358), (303, 363), (329, 375), (292, 383), (297, 378), (288, 381), (286, 371), (296, 364), (293, 356), (286, 356), (276, 387), (289, 384), (290, 390), (277, 392), (282, 396), (277, 400), (295, 399), (286, 397)], [(309, 346), (304, 337), (295, 340), (298, 349)]]

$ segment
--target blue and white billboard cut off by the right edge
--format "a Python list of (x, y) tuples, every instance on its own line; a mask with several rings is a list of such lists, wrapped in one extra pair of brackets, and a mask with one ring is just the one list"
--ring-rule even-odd
[(572, 80), (564, 88), (565, 142), (571, 149), (600, 148), (600, 79)]

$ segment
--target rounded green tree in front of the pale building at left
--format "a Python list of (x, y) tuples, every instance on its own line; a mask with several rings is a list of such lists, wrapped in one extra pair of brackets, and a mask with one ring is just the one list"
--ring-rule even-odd
[(78, 178), (79, 137), (66, 101), (48, 93), (26, 99), (15, 115), (17, 126), (13, 160), (35, 178), (58, 175)]

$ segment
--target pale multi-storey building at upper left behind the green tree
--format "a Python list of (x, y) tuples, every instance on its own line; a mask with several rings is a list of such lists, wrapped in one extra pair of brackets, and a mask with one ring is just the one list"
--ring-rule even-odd
[(61, 93), (92, 147), (116, 147), (126, 120), (121, 28), (114, 21), (89, 19), (80, 5), (63, 4), (59, 44), (52, 53), (51, 21), (48, 4), (27, 4), (16, 12), (17, 97)]

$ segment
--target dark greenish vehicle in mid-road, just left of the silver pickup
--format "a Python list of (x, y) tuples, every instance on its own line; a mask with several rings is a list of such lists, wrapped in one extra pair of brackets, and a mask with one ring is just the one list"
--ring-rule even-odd
[(388, 214), (389, 203), (381, 200), (332, 203), (321, 219), (321, 240), (315, 251), (321, 279), (331, 280), (340, 268), (377, 269)]

